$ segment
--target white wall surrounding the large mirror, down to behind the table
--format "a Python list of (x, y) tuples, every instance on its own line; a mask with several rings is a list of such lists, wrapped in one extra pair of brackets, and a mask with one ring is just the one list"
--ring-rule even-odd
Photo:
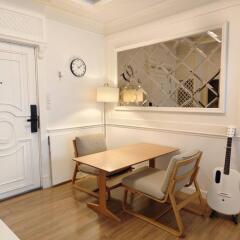
[[(204, 152), (200, 171), (200, 185), (203, 191), (208, 188), (212, 169), (224, 163), (226, 141), (222, 136), (226, 133), (226, 127), (239, 127), (240, 6), (239, 2), (236, 4), (238, 5), (234, 7), (226, 7), (220, 2), (211, 4), (106, 38), (107, 75), (116, 82), (115, 49), (157, 39), (171, 39), (229, 22), (227, 97), (224, 114), (115, 111), (114, 108), (109, 109), (108, 113), (108, 142), (111, 146), (141, 141), (172, 145), (181, 149), (201, 149)], [(235, 139), (232, 167), (238, 170), (239, 153), (239, 142)]]

